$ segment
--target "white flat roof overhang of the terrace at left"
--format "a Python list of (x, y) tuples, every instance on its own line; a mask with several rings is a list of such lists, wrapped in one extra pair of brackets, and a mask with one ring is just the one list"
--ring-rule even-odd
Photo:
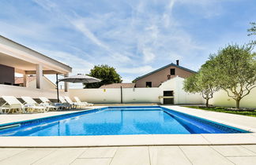
[(36, 64), (42, 64), (44, 75), (72, 72), (70, 66), (13, 42), (2, 35), (0, 35), (0, 64), (13, 67), (15, 72), (27, 75), (36, 74)]

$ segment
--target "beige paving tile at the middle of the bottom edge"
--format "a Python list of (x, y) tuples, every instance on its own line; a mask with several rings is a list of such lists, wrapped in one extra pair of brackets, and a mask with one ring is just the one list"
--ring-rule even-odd
[(120, 147), (115, 152), (111, 165), (149, 165), (148, 147)]

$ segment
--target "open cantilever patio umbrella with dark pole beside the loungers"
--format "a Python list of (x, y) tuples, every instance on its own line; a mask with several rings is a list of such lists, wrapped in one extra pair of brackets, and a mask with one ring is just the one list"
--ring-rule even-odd
[(57, 81), (57, 97), (58, 97), (58, 83), (59, 82), (68, 82), (68, 83), (98, 83), (101, 79), (96, 79), (95, 77), (91, 77), (88, 75), (71, 75), (69, 77), (65, 77), (63, 79), (58, 79)]

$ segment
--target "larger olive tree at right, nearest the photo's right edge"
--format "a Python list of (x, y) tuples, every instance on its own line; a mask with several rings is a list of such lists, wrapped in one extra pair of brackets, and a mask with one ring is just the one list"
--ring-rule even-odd
[(236, 108), (256, 87), (256, 53), (251, 53), (252, 49), (247, 45), (228, 45), (211, 56), (217, 73), (216, 84), (236, 101)]

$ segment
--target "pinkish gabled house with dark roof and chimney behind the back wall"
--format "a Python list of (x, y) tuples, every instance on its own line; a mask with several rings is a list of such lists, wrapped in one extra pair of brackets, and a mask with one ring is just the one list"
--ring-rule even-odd
[(161, 83), (167, 81), (168, 79), (175, 78), (177, 75), (185, 79), (194, 73), (196, 72), (179, 66), (179, 61), (176, 61), (176, 64), (168, 64), (163, 68), (156, 69), (156, 71), (149, 72), (146, 75), (138, 77), (135, 79), (135, 86), (139, 88), (158, 87), (161, 85)]

